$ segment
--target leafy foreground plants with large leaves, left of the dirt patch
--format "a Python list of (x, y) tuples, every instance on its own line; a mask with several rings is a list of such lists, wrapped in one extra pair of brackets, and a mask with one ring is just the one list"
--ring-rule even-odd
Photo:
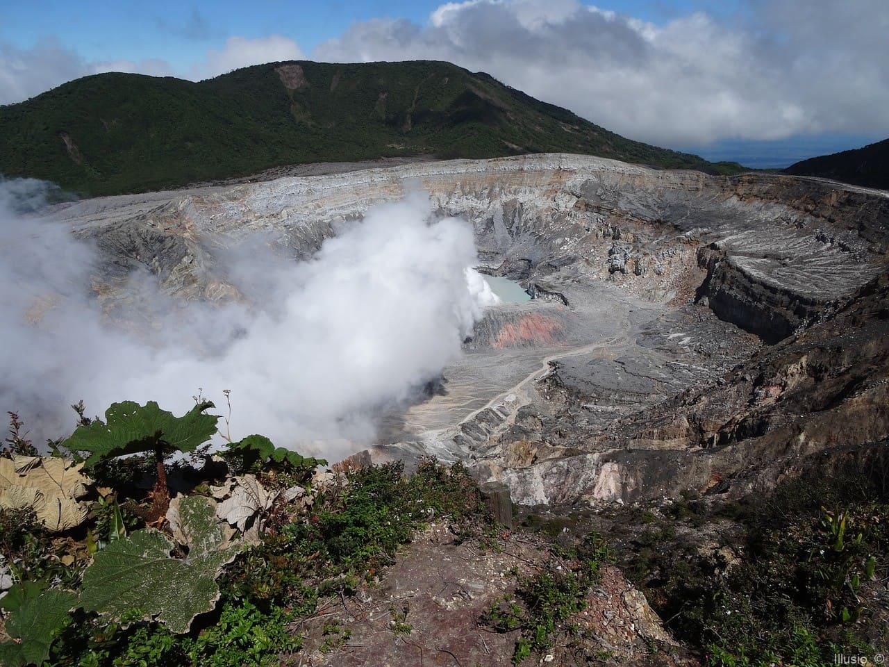
[[(152, 454), (119, 458), (122, 447), (135, 446), (127, 438), (142, 439), (140, 428), (128, 427), (159, 417), (165, 425), (153, 438), (181, 443), (174, 435), (190, 430), (190, 446), (204, 437), (203, 428), (195, 428), (196, 417), (208, 416), (204, 406), (176, 418), (152, 402), (124, 402), (108, 409), (108, 424), (78, 411), (77, 437), (56, 445), (56, 452), (69, 445), (76, 451), (67, 455), (79, 459), (76, 452), (105, 451), (91, 469), (94, 480), (84, 482), (89, 516), (73, 529), (47, 529), (28, 502), (21, 508), (0, 504), (0, 577), (9, 589), (0, 599), (0, 664), (287, 663), (302, 643), (300, 621), (320, 614), (325, 600), (354, 594), (431, 520), (453, 520), (467, 536), (495, 529), (477, 484), (459, 463), (447, 468), (423, 460), (410, 477), (401, 463), (313, 474), (322, 462), (276, 460), (277, 450), (269, 450), (271, 443), (261, 436), (229, 443), (229, 465), (192, 467), (206, 463), (202, 447), (196, 460), (167, 466), (188, 493), (170, 501), (165, 516), (149, 521), (157, 498), (145, 497), (142, 482), (157, 462)], [(0, 476), (0, 491), (7, 494), (28, 484), (35, 465), (23, 454), (32, 444), (17, 417), (11, 426), (0, 448), (0, 461), (18, 471)], [(103, 448), (109, 429), (115, 447)], [(252, 454), (268, 454), (268, 461)], [(255, 475), (240, 476), (245, 461)], [(281, 497), (288, 489), (298, 493)], [(223, 496), (227, 500), (218, 503)], [(232, 521), (237, 529), (228, 526)], [(348, 632), (335, 620), (326, 624), (323, 650), (339, 646)]]

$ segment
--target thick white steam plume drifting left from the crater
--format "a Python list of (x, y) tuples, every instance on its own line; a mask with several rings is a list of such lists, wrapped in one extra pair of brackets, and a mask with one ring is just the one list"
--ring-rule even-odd
[(92, 293), (92, 247), (63, 222), (21, 213), (46, 187), (0, 181), (0, 409), (19, 411), (32, 434), (68, 435), (80, 398), (88, 414), (124, 399), (181, 414), (203, 387), (217, 414), (231, 390), (233, 438), (262, 433), (307, 451), (324, 441), (322, 454), (348, 454), (373, 437), (382, 410), (459, 357), (494, 302), (467, 271), (477, 262), (469, 224), (432, 220), (428, 199), (412, 194), (373, 208), (309, 261), (283, 261), (265, 244), (232, 253), (249, 305), (183, 308), (141, 289), (151, 321), (130, 328), (151, 333), (134, 336), (108, 325)]

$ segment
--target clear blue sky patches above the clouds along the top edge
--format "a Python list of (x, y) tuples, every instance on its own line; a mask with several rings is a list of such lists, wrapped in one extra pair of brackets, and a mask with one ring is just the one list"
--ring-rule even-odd
[[(317, 44), (341, 35), (353, 23), (404, 18), (423, 24), (443, 2), (435, 0), (365, 0), (364, 2), (285, 2), (223, 0), (196, 4), (157, 2), (72, 3), (60, 0), (11, 2), (0, 6), (0, 40), (28, 48), (44, 38), (75, 46), (88, 60), (164, 58), (187, 69), (204, 51), (228, 36), (291, 37), (311, 52)], [(624, 0), (597, 2), (597, 7), (662, 23), (693, 12), (731, 18), (742, 15), (733, 0)]]

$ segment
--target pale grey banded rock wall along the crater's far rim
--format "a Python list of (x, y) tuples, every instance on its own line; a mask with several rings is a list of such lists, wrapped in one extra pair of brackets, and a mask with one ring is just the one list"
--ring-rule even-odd
[(411, 188), (426, 190), (437, 213), (472, 222), (488, 270), (527, 281), (541, 297), (565, 302), (554, 280), (611, 282), (653, 301), (703, 284), (698, 296), (719, 317), (769, 342), (877, 275), (889, 238), (889, 198), (875, 192), (569, 155), (105, 197), (60, 214), (98, 241), (107, 277), (140, 264), (170, 293), (216, 300), (238, 293), (220, 246), (263, 231), (304, 259), (369, 206)]

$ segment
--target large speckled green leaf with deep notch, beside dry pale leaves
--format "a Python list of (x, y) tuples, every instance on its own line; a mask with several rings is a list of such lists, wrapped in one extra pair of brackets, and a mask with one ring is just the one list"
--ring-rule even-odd
[(156, 530), (109, 543), (84, 572), (84, 609), (115, 619), (140, 611), (146, 620), (156, 617), (173, 632), (187, 632), (196, 615), (215, 607), (216, 578), (240, 549), (226, 541), (215, 505), (203, 496), (180, 503), (186, 559), (170, 558), (173, 542)]

